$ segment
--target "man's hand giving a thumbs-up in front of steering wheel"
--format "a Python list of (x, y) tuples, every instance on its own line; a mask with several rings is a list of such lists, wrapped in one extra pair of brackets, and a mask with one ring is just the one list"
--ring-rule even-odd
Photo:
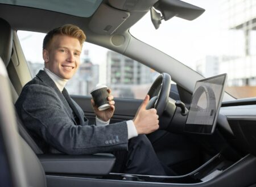
[(149, 134), (159, 128), (158, 114), (156, 114), (156, 109), (146, 109), (149, 99), (149, 96), (146, 95), (141, 107), (138, 108), (138, 111), (133, 119), (138, 134)]

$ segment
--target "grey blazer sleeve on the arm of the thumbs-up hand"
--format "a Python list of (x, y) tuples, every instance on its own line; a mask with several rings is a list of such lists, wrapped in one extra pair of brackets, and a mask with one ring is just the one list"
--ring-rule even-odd
[(75, 125), (51, 87), (31, 85), (23, 90), (20, 117), (28, 130), (66, 154), (127, 150), (127, 124)]

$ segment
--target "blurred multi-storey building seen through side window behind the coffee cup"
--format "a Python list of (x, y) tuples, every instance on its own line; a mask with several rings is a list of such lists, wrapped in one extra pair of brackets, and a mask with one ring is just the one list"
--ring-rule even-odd
[[(109, 51), (106, 59), (106, 84), (116, 97), (139, 98), (152, 83), (155, 71), (131, 58)], [(143, 97), (142, 96), (142, 97)]]

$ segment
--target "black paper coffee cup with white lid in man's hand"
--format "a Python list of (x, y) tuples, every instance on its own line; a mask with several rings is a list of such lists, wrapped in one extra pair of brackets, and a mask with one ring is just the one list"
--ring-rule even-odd
[(109, 92), (107, 86), (97, 86), (90, 92), (90, 94), (92, 95), (94, 103), (98, 107), (99, 111), (104, 111), (110, 107), (108, 100)]

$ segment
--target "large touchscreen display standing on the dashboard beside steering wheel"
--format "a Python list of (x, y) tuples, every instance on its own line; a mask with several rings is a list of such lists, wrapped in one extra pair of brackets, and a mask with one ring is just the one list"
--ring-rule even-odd
[[(226, 74), (196, 82), (186, 122), (186, 126), (190, 125), (190, 128), (186, 129), (187, 131), (195, 133), (213, 132), (212, 126), (217, 120), (225, 82)], [(201, 128), (202, 125), (208, 126), (208, 128)]]

